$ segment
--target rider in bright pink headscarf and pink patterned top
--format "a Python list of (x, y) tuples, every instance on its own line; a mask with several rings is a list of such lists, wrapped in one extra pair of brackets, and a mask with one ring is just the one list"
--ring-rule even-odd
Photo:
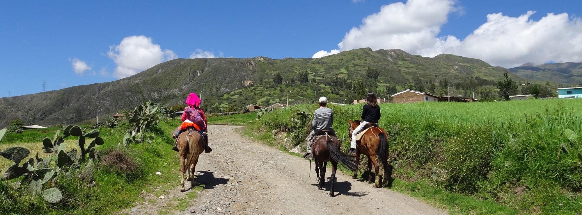
[[(206, 123), (206, 115), (204, 114), (204, 110), (200, 109), (200, 98), (195, 93), (191, 93), (188, 98), (186, 99), (187, 107), (184, 107), (184, 113), (182, 113), (182, 125), (176, 128), (173, 138), (177, 139), (178, 135), (182, 133), (182, 131), (186, 131), (188, 128), (194, 128), (197, 131), (200, 131), (204, 137), (205, 141), (205, 148), (206, 153), (210, 152), (210, 147), (208, 147), (208, 128)], [(178, 141), (176, 141), (178, 142)], [(174, 144), (174, 148), (172, 148), (176, 152), (178, 152), (178, 146)]]

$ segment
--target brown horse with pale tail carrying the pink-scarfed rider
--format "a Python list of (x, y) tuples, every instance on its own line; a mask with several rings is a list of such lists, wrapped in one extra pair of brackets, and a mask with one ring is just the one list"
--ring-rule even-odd
[(180, 153), (180, 165), (182, 165), (182, 188), (184, 189), (184, 173), (188, 172), (186, 180), (190, 181), (190, 186), (194, 187), (194, 178), (192, 175), (196, 173), (196, 164), (198, 163), (198, 156), (204, 152), (202, 135), (193, 129), (186, 130), (178, 137), (178, 149)]

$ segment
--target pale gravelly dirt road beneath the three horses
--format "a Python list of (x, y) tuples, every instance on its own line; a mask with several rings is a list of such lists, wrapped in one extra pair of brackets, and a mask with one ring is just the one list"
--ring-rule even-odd
[[(210, 126), (212, 153), (203, 153), (196, 182), (204, 191), (176, 214), (446, 214), (426, 203), (385, 188), (353, 180), (338, 170), (335, 197), (317, 189), (309, 162), (240, 135), (242, 127)], [(313, 165), (313, 163), (311, 163)], [(331, 170), (326, 173), (329, 180)], [(190, 187), (186, 183), (186, 188)], [(179, 185), (167, 196), (180, 198)], [(132, 214), (157, 214), (171, 199), (132, 208)]]

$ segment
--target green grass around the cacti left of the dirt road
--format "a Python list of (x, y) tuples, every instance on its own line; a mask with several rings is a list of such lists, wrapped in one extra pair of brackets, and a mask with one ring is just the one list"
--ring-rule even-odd
[[(101, 158), (94, 162), (95, 185), (90, 185), (76, 175), (71, 178), (58, 177), (48, 182), (45, 188), (55, 187), (62, 191), (63, 200), (59, 203), (48, 203), (40, 195), (31, 193), (28, 184), (21, 184), (20, 187), (12, 184), (22, 177), (9, 181), (0, 180), (0, 214), (114, 214), (143, 200), (140, 197), (143, 191), (162, 193), (178, 187), (178, 182), (176, 182), (179, 179), (176, 177), (179, 172), (178, 153), (171, 149), (173, 139), (170, 137), (170, 132), (178, 126), (178, 123), (178, 121), (161, 120), (148, 132), (155, 136), (154, 141), (132, 144), (127, 148), (119, 146), (126, 132), (125, 128), (102, 128), (100, 137), (104, 139), (105, 144), (96, 148)], [(52, 138), (54, 131), (52, 133), (29, 131), (23, 134), (24, 139), (28, 137), (37, 139), (37, 136), (40, 139), (37, 139), (37, 142), (20, 145), (40, 149), (42, 138)], [(5, 144), (2, 141), (0, 148), (15, 145), (19, 144), (13, 141)], [(75, 148), (73, 145), (73, 143), (68, 144), (67, 150)], [(129, 159), (135, 165), (126, 171), (119, 168), (126, 164), (119, 163), (120, 160), (105, 163), (105, 157), (113, 152)], [(5, 161), (3, 157), (0, 159), (2, 162)], [(4, 170), (5, 168), (2, 169), (2, 173)], [(157, 175), (156, 172), (162, 174)], [(178, 205), (183, 205), (183, 203), (176, 204), (175, 208), (181, 208)]]

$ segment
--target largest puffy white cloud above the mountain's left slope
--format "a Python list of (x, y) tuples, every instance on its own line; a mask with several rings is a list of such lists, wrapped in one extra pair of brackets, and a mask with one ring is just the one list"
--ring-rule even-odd
[(162, 51), (158, 44), (144, 35), (123, 38), (119, 45), (109, 47), (108, 55), (117, 64), (113, 72), (117, 78), (133, 76), (159, 63), (178, 58), (171, 50)]

